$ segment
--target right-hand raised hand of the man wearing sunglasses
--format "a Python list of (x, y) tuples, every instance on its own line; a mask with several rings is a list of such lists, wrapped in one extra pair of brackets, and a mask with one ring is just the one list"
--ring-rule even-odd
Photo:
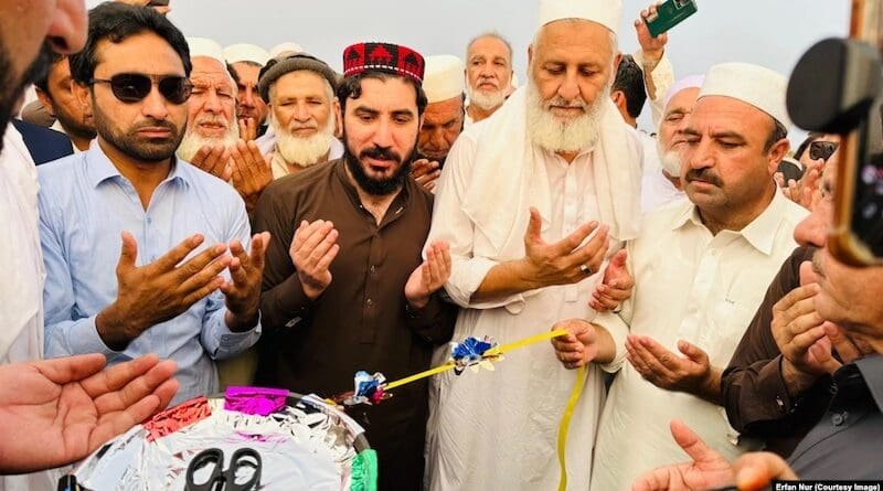
[(252, 237), (252, 252), (246, 254), (240, 241), (230, 243), (231, 281), (221, 286), (226, 297), (226, 323), (231, 331), (247, 331), (257, 323), (260, 308), (260, 281), (264, 278), (264, 255), (269, 245), (269, 232)]

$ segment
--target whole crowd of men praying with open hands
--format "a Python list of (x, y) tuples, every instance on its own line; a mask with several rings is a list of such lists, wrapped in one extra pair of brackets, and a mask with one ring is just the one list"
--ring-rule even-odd
[(0, 490), (54, 489), (230, 384), (330, 396), (549, 329), (349, 409), (379, 488), (883, 478), (883, 274), (828, 249), (840, 137), (791, 152), (779, 72), (675, 81), (655, 8), (623, 54), (608, 0), (539, 1), (522, 87), (496, 32), (462, 60), (357, 43), (338, 73), (146, 0), (21, 3), (0, 2)]

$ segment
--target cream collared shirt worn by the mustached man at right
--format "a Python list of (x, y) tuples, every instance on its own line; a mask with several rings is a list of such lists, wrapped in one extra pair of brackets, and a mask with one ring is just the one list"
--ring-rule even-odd
[[(617, 322), (675, 354), (678, 341), (689, 341), (723, 369), (796, 247), (794, 228), (806, 214), (777, 190), (767, 209), (740, 232), (712, 235), (689, 201), (645, 215), (640, 237), (628, 245), (634, 295)], [(598, 323), (608, 327), (608, 320)], [(674, 418), (727, 460), (756, 449), (738, 440), (723, 407), (659, 388), (624, 363), (602, 416), (592, 489), (631, 489), (645, 472), (683, 461), (669, 430)]]

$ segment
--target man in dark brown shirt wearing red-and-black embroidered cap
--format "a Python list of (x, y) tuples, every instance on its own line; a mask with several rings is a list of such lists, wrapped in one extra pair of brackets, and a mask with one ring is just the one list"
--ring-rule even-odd
[[(257, 204), (255, 226), (274, 237), (259, 385), (337, 394), (359, 370), (396, 380), (426, 370), (453, 332), (454, 308), (437, 295), (448, 245), (421, 258), (433, 198), (408, 173), (426, 107), (423, 56), (384, 43), (343, 53), (343, 158), (274, 181)], [(419, 489), (426, 399), (423, 381), (351, 410), (377, 450), (379, 489)]]

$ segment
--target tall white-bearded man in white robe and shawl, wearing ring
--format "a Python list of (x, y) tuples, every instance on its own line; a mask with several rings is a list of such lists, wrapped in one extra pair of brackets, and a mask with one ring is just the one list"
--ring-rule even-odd
[[(620, 15), (620, 1), (542, 0), (526, 86), (467, 128), (448, 154), (427, 244), (450, 244), (445, 288), (462, 307), (454, 340), (503, 344), (575, 319), (617, 317), (591, 300), (606, 286), (598, 286), (606, 259), (640, 224), (641, 146), (608, 96)], [(625, 355), (615, 348), (625, 325), (597, 334), (604, 349), (587, 369), (563, 456), (568, 490), (588, 488), (603, 371)], [(493, 374), (434, 380), (430, 489), (558, 485), (556, 436), (579, 378), (547, 343), (507, 353)]]

